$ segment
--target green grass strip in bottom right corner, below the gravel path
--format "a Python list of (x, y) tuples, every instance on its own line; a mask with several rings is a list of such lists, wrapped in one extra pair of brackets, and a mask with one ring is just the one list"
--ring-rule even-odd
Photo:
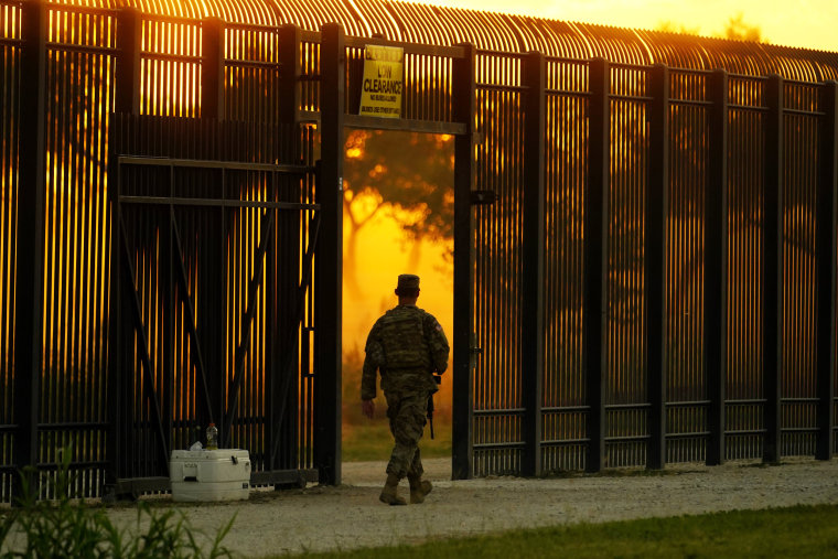
[[(475, 514), (479, 514), (475, 512)], [(838, 506), (795, 506), (515, 530), (311, 558), (837, 557)]]

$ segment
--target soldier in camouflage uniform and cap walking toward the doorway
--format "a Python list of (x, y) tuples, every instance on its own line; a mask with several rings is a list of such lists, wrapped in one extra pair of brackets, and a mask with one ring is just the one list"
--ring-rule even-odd
[(437, 319), (416, 307), (419, 277), (404, 273), (398, 278), (399, 304), (378, 319), (369, 332), (361, 379), (364, 415), (375, 412), (376, 369), (382, 373), (382, 390), (387, 399), (387, 418), (396, 444), (387, 464), (387, 482), (378, 497), (388, 505), (406, 505), (398, 496), (399, 481), (410, 482), (410, 503), (421, 503), (431, 492), (422, 480), (419, 439), (426, 423), (428, 398), (437, 391), (433, 374), (448, 367), (448, 340)]

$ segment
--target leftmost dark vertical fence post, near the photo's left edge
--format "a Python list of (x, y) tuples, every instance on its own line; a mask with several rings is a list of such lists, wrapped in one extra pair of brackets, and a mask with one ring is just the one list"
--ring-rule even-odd
[[(45, 101), (47, 8), (24, 2), (21, 14), (20, 187), (15, 234), (14, 304), (14, 463), (36, 466), (39, 456), (41, 369), (43, 366)], [(29, 476), (30, 486), (36, 483)], [(13, 476), (13, 494), (22, 496), (21, 479)]]

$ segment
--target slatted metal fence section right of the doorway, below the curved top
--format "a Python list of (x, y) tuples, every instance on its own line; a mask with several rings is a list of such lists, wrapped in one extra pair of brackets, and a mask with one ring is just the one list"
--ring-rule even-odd
[(835, 83), (499, 61), (519, 82), (477, 83), (499, 200), (474, 227), (473, 473), (829, 456)]

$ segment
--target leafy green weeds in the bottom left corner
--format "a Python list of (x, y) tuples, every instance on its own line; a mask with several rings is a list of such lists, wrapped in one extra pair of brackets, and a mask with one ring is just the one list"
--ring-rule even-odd
[(65, 448), (57, 474), (49, 482), (54, 501), (37, 498), (29, 483), (36, 475), (34, 471), (21, 474), (23, 497), (0, 520), (0, 559), (233, 557), (222, 540), (235, 516), (217, 530), (206, 550), (183, 513), (153, 510), (142, 502), (137, 506), (136, 530), (120, 529), (103, 506), (73, 497), (69, 456)]

